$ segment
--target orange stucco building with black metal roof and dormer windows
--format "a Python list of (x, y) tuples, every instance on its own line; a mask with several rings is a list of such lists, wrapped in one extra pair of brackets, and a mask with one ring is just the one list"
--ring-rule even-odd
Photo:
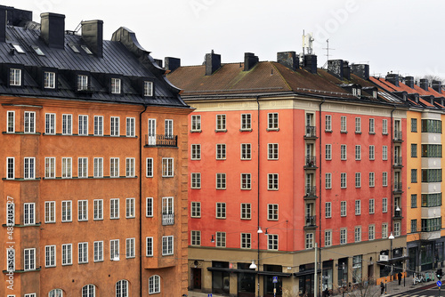
[(134, 33), (0, 6), (2, 296), (187, 293), (190, 108)]

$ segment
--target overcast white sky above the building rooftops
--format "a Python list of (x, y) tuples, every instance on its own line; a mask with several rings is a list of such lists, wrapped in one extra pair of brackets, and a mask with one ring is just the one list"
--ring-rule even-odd
[(443, 0), (3, 0), (34, 12), (66, 15), (66, 29), (103, 20), (105, 39), (130, 28), (156, 59), (198, 65), (212, 49), (223, 63), (244, 52), (276, 60), (277, 52), (302, 52), (303, 29), (313, 32), (319, 67), (331, 59), (367, 62), (371, 74), (445, 78)]

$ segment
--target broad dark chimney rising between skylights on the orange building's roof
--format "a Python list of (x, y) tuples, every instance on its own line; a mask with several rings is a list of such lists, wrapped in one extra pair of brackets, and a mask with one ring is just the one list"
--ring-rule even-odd
[(40, 36), (50, 47), (65, 48), (65, 15), (52, 12), (40, 14), (41, 32)]

